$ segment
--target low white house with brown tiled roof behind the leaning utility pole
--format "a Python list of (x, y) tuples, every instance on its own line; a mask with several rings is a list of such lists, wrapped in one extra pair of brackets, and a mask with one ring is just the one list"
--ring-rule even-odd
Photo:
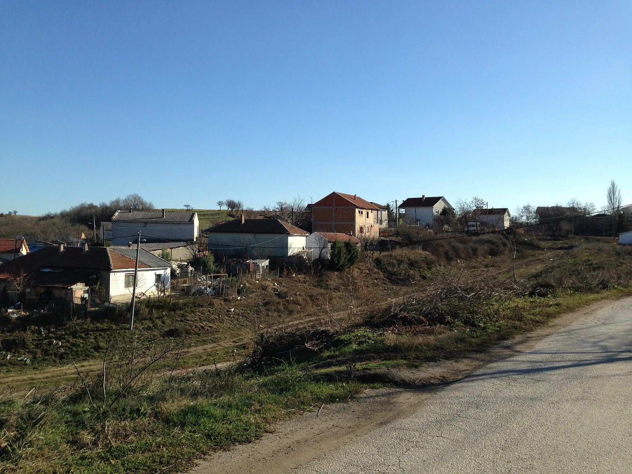
[[(45, 246), (0, 265), (0, 295), (3, 300), (81, 303), (98, 283), (102, 300), (130, 301), (135, 259), (135, 248)], [(141, 249), (137, 295), (167, 290), (170, 281), (171, 264)]]

